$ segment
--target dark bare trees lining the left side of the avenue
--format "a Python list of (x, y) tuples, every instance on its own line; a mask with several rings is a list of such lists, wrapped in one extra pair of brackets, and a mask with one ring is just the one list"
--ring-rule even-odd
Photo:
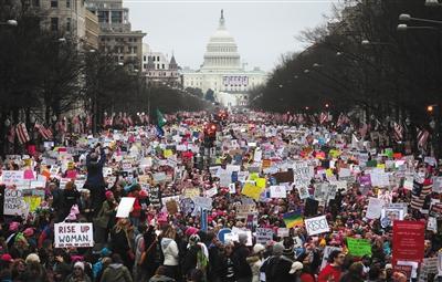
[[(24, 2), (23, 2), (24, 3)], [(19, 9), (18, 9), (19, 8)], [(208, 103), (168, 85), (150, 85), (137, 62), (118, 63), (115, 55), (82, 48), (81, 40), (41, 28), (42, 12), (0, 0), (0, 127), (38, 119), (50, 126), (72, 109), (104, 113), (199, 111)], [(93, 114), (94, 113), (94, 114)]]

